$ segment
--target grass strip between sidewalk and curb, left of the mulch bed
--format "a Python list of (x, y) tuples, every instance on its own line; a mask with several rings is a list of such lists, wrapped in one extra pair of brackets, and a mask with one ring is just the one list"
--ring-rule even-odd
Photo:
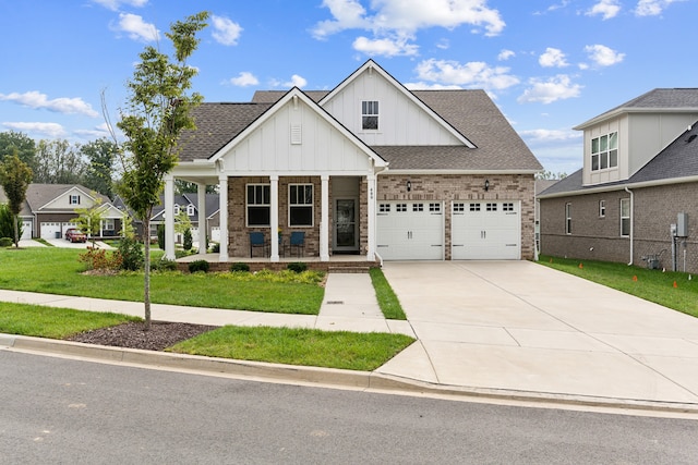
[(112, 313), (0, 302), (0, 332), (5, 334), (65, 339), (83, 331), (112, 327), (128, 321), (141, 321), (141, 318)]

